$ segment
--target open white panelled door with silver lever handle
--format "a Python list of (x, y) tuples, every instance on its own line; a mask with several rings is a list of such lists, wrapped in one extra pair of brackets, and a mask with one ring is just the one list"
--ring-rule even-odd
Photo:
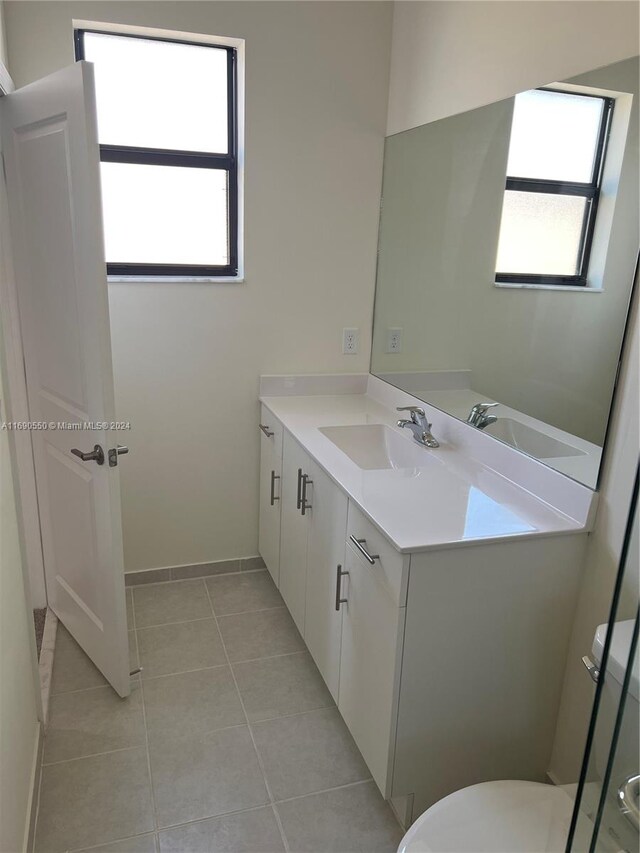
[[(115, 420), (93, 67), (79, 62), (0, 100), (29, 414)], [(49, 606), (120, 696), (129, 655), (118, 468), (122, 433), (35, 429)], [(72, 450), (99, 446), (102, 465)], [(117, 456), (116, 460), (117, 462)]]

